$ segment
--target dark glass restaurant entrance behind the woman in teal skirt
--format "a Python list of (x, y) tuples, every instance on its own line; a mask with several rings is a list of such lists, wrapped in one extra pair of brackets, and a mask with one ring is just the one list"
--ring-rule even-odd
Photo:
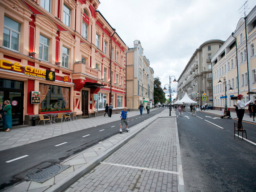
[[(12, 106), (13, 126), (23, 124), (24, 82), (0, 78), (0, 103), (10, 100)], [(0, 112), (3, 116), (3, 111)], [(3, 120), (0, 119), (0, 128)]]

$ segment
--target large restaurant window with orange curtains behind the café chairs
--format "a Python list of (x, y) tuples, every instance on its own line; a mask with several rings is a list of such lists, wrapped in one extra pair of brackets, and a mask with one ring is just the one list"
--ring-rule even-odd
[(39, 92), (41, 92), (39, 111), (70, 110), (70, 88), (39, 84)]

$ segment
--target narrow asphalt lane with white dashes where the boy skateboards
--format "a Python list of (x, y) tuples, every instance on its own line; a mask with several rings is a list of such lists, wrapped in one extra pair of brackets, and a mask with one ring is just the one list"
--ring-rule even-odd
[[(142, 116), (132, 116), (129, 119), (128, 127), (131, 128), (145, 119), (160, 113), (162, 110), (164, 110), (164, 108), (154, 110), (149, 115), (143, 114)], [(13, 176), (17, 174), (44, 162), (60, 163), (64, 159), (90, 148), (112, 135), (119, 134), (120, 123), (120, 120), (114, 121), (97, 127), (91, 127), (47, 140), (0, 151), (0, 175), (2, 176), (0, 177), (0, 190), (20, 181), (19, 179), (13, 178)], [(125, 129), (125, 124), (122, 128)], [(126, 132), (123, 132), (122, 134), (125, 133)], [(6, 163), (6, 161), (25, 155), (28, 156)]]

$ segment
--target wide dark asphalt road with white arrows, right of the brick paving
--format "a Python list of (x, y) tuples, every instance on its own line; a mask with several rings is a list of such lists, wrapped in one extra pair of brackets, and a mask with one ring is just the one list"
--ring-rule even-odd
[(255, 192), (256, 124), (243, 122), (248, 141), (234, 139), (237, 120), (189, 112), (177, 113), (185, 191)]

